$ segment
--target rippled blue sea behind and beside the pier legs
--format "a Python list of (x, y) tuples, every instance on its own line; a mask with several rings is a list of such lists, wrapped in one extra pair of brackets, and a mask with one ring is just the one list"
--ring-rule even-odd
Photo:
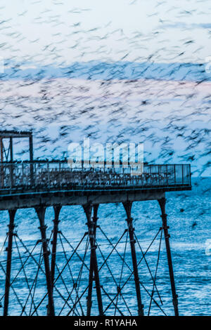
[[(174, 277), (179, 296), (179, 314), (210, 315), (211, 179), (193, 178), (192, 184), (192, 191), (166, 194)], [(142, 258), (139, 263), (139, 277), (145, 315), (148, 313), (149, 315), (174, 315), (163, 237), (160, 243), (161, 218), (158, 202), (134, 202), (132, 216), (137, 239), (138, 263)], [(127, 232), (124, 232), (127, 228), (125, 219), (122, 204), (101, 204), (99, 206), (96, 253), (102, 286), (103, 310), (106, 315), (137, 315), (134, 278), (131, 275), (132, 260), (129, 239)], [(53, 208), (46, 209), (48, 238), (52, 237), (52, 220)], [(7, 224), (8, 213), (1, 211), (1, 246), (6, 238)], [(42, 271), (44, 263), (40, 257), (41, 244), (38, 242), (34, 248), (34, 244), (40, 239), (39, 220), (33, 209), (18, 210), (15, 224), (17, 235), (13, 239), (9, 315), (21, 315), (21, 313), (22, 315), (46, 315), (46, 282)], [(59, 229), (55, 279), (58, 277), (58, 272), (63, 271), (54, 287), (56, 315), (83, 315), (83, 313), (86, 315), (90, 249), (87, 245), (89, 242), (87, 235), (79, 244), (84, 233), (87, 232), (82, 206), (64, 206), (60, 211)], [(157, 238), (151, 244), (157, 234)], [(120, 242), (117, 244), (119, 240)], [(117, 245), (115, 246), (115, 244)], [(150, 246), (149, 249), (148, 246)], [(4, 305), (4, 270), (6, 270), (5, 247), (1, 251), (0, 259), (2, 305)], [(77, 253), (74, 253), (72, 248), (77, 248)], [(50, 242), (49, 249), (51, 249)], [(147, 249), (148, 252), (143, 258)], [(113, 253), (111, 253), (112, 250)], [(156, 277), (156, 287), (154, 286), (151, 301), (152, 276)], [(127, 284), (124, 284), (125, 282)], [(122, 295), (117, 296), (117, 286), (122, 288)], [(67, 298), (68, 303), (65, 303)], [(98, 315), (95, 285), (92, 302), (91, 315)], [(37, 308), (37, 306), (39, 307)], [(1, 308), (1, 314), (2, 312), (3, 308)]]

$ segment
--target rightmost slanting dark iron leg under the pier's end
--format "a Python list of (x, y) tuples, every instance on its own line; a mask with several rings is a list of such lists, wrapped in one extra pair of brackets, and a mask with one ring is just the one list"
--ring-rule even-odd
[(161, 218), (162, 218), (162, 229), (164, 231), (165, 235), (165, 246), (167, 251), (167, 260), (168, 260), (168, 266), (169, 266), (169, 272), (170, 272), (170, 282), (171, 282), (171, 288), (172, 288), (172, 302), (174, 305), (174, 315), (179, 316), (179, 310), (178, 310), (178, 296), (176, 293), (176, 287), (174, 282), (174, 271), (173, 271), (173, 265), (172, 265), (172, 253), (170, 249), (170, 235), (168, 232), (169, 227), (167, 226), (167, 214), (165, 213), (165, 197), (162, 197), (161, 199), (158, 199), (158, 203), (160, 204), (161, 209)]

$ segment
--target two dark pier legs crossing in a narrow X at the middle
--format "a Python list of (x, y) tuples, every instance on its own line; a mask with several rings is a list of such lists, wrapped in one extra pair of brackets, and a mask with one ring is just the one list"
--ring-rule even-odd
[(101, 284), (100, 278), (98, 273), (98, 262), (96, 257), (96, 223), (97, 223), (97, 211), (98, 205), (94, 205), (94, 216), (91, 220), (91, 211), (92, 206), (86, 205), (83, 206), (84, 212), (87, 216), (87, 226), (89, 229), (89, 242), (91, 247), (91, 254), (90, 254), (90, 268), (89, 268), (89, 289), (88, 289), (88, 296), (87, 296), (87, 316), (91, 315), (91, 296), (92, 296), (92, 287), (93, 287), (93, 280), (96, 284), (96, 295), (98, 300), (98, 310), (99, 315), (103, 315), (103, 301), (101, 296)]

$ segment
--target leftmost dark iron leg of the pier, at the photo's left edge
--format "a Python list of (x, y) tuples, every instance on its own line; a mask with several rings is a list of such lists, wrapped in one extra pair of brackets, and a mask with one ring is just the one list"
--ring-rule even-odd
[(6, 260), (6, 280), (5, 280), (5, 291), (4, 291), (4, 316), (8, 315), (8, 303), (9, 303), (9, 291), (11, 287), (11, 259), (12, 259), (12, 249), (13, 249), (13, 235), (14, 235), (14, 219), (16, 210), (9, 210), (10, 222), (8, 225), (8, 246), (7, 260)]

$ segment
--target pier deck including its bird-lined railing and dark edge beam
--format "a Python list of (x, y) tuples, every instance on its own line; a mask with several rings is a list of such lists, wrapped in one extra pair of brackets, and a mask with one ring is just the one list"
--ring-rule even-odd
[(132, 176), (129, 168), (70, 169), (62, 161), (1, 163), (1, 210), (134, 202), (175, 190), (191, 190), (188, 164), (145, 164), (140, 176)]

